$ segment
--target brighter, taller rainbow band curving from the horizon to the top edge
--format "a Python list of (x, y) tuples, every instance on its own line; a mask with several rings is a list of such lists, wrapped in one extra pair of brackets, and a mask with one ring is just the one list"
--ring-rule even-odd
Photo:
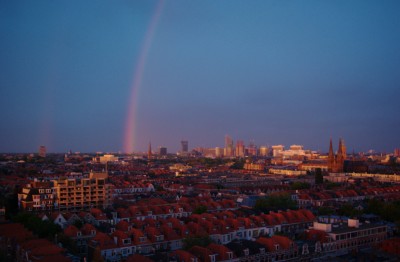
[(131, 85), (131, 93), (129, 97), (128, 113), (125, 122), (125, 135), (124, 135), (124, 152), (132, 153), (135, 146), (135, 127), (136, 127), (136, 109), (138, 104), (139, 89), (142, 85), (144, 68), (147, 56), (153, 42), (154, 33), (158, 20), (160, 19), (163, 9), (164, 0), (160, 0), (155, 8), (153, 16), (147, 28), (142, 47), (140, 49), (140, 56), (137, 60), (135, 71), (133, 74), (133, 83)]

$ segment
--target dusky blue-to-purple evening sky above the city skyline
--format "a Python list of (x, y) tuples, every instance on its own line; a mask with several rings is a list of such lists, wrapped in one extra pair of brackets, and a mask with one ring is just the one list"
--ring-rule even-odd
[(0, 152), (176, 152), (226, 134), (392, 152), (399, 13), (396, 0), (0, 0)]

